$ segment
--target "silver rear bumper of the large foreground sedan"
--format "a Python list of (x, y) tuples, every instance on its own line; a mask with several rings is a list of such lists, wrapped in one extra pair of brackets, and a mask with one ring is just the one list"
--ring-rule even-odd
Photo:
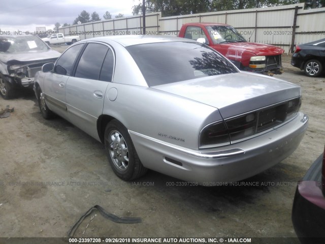
[[(305, 119), (305, 120), (303, 120)], [(246, 141), (191, 150), (129, 131), (142, 164), (178, 179), (210, 186), (258, 174), (279, 163), (299, 146), (308, 117), (299, 112), (285, 125)]]

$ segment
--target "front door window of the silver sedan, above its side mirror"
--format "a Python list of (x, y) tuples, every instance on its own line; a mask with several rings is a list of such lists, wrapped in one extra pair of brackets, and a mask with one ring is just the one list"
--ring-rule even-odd
[(60, 75), (71, 75), (75, 60), (83, 47), (83, 44), (75, 45), (64, 52), (55, 63), (54, 73)]

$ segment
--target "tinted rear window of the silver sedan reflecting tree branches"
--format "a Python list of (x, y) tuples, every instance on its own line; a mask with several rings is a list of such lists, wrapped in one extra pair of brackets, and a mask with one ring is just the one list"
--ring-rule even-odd
[(126, 49), (149, 86), (238, 72), (228, 59), (199, 43), (149, 43)]

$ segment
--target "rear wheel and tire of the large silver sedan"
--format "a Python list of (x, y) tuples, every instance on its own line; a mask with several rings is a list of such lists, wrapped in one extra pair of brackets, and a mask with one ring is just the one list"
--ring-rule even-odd
[(127, 129), (116, 119), (105, 129), (105, 151), (114, 173), (123, 180), (133, 180), (147, 172), (142, 165)]

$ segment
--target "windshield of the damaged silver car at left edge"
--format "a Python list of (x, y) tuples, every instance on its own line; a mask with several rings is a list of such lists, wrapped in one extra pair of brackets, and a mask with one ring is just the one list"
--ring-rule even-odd
[(48, 49), (46, 44), (35, 36), (0, 37), (0, 52), (16, 53)]

